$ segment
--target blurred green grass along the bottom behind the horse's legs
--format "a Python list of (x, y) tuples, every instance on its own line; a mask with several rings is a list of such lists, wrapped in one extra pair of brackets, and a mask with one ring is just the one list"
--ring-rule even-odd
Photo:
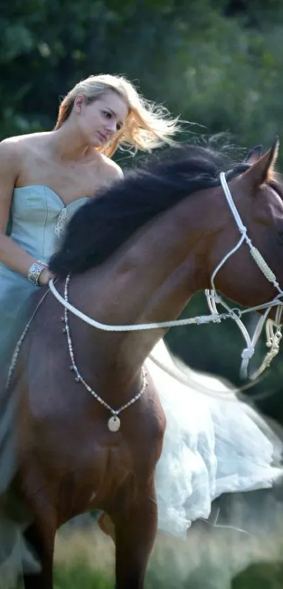
[[(146, 589), (279, 589), (282, 541), (221, 530), (194, 531), (187, 542), (158, 536)], [(55, 589), (113, 589), (114, 547), (96, 527), (60, 531), (55, 549)]]

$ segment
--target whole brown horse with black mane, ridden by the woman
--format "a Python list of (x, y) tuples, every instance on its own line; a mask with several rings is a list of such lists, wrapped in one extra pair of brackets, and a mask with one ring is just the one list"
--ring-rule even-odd
[[(283, 285), (283, 186), (272, 173), (276, 157), (277, 142), (263, 157), (255, 152), (235, 166), (202, 147), (152, 157), (75, 213), (51, 259), (56, 288), (64, 294), (70, 274), (70, 302), (105, 324), (176, 319), (193, 293), (209, 288), (213, 270), (239, 239), (221, 171), (249, 237)], [(246, 244), (221, 268), (216, 286), (246, 306), (277, 294)], [(110, 407), (127, 404), (142, 392), (143, 364), (166, 329), (107, 332), (69, 313), (65, 333), (64, 312), (48, 292), (10, 385), (20, 398), (13, 488), (32, 514), (27, 538), (41, 562), (39, 574), (25, 575), (25, 588), (53, 587), (58, 527), (82, 512), (103, 510), (114, 526), (116, 586), (141, 589), (157, 532), (154, 470), (164, 412), (148, 375), (143, 395), (121, 411), (121, 426), (111, 431), (109, 409), (75, 377), (77, 369)], [(205, 337), (206, 328), (199, 329)]]

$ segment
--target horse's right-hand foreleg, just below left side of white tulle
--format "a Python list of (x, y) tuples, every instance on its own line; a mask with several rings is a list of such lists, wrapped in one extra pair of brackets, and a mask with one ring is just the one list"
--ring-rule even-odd
[(113, 517), (116, 541), (116, 588), (143, 589), (145, 571), (157, 533), (157, 503), (150, 494), (123, 516)]

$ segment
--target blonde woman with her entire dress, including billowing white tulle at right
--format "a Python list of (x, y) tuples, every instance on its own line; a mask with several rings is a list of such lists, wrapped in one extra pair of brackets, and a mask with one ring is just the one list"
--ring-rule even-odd
[[(11, 325), (17, 325), (15, 315), (51, 278), (46, 264), (68, 218), (86, 199), (95, 197), (100, 187), (121, 178), (121, 169), (110, 159), (117, 147), (149, 151), (170, 143), (176, 131), (178, 121), (141, 98), (129, 81), (102, 75), (74, 86), (60, 105), (53, 131), (1, 143), (1, 357), (8, 356)], [(6, 234), (9, 216), (10, 236)], [(157, 346), (155, 354), (167, 365), (171, 362), (162, 345)], [(189, 392), (150, 359), (147, 369), (160, 392), (168, 421), (157, 468), (159, 529), (185, 536), (192, 520), (209, 517), (211, 501), (221, 493), (272, 485), (281, 473), (271, 465), (276, 444), (240, 405), (231, 411), (229, 404), (224, 406), (217, 400), (204, 404), (204, 397), (194, 390), (193, 379)], [(206, 384), (201, 378), (201, 385), (204, 390), (219, 390), (220, 383), (207, 378)], [(11, 414), (13, 405), (11, 409), (7, 402), (0, 434), (6, 432)], [(239, 422), (242, 431), (236, 433)], [(0, 495), (13, 474), (11, 446), (5, 447), (4, 433)]]

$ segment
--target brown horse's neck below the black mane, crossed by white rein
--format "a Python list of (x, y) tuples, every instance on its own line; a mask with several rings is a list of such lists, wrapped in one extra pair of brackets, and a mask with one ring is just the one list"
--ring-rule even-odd
[[(176, 319), (193, 293), (207, 286), (206, 251), (211, 218), (205, 197), (188, 197), (136, 235), (86, 278), (88, 315), (107, 324), (141, 324)], [(202, 238), (206, 235), (206, 239)], [(85, 299), (86, 300), (86, 299)], [(93, 329), (93, 328), (91, 328)], [(126, 333), (93, 330), (96, 347), (117, 364), (143, 364), (165, 329)]]

